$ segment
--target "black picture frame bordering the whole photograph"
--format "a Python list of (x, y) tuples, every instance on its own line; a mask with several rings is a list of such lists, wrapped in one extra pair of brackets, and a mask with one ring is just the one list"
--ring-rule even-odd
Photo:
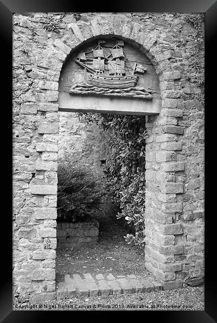
[[(215, 94), (217, 92), (215, 78), (217, 73), (217, 1), (214, 0), (119, 0), (111, 2), (102, 8), (102, 4), (89, 2), (85, 4), (86, 12), (205, 12), (205, 311), (145, 311), (142, 320), (146, 322), (159, 319), (159, 322), (176, 322), (176, 323), (213, 323), (217, 322), (217, 261), (216, 261), (216, 213), (215, 213)], [(68, 311), (12, 311), (12, 273), (11, 273), (11, 250), (12, 250), (12, 228), (10, 206), (12, 205), (11, 183), (12, 176), (12, 150), (11, 150), (11, 134), (10, 120), (12, 109), (10, 105), (12, 78), (11, 78), (11, 62), (12, 62), (12, 13), (13, 12), (72, 12), (79, 11), (84, 8), (84, 2), (73, 3), (70, 0), (1, 0), (0, 1), (0, 39), (1, 53), (3, 60), (1, 61), (1, 79), (3, 86), (1, 87), (1, 151), (0, 158), (1, 183), (3, 186), (3, 194), (1, 194), (1, 267), (3, 274), (1, 275), (0, 287), (0, 322), (40, 322), (46, 318), (50, 319), (51, 315), (63, 316)], [(213, 80), (214, 76), (214, 80)], [(7, 93), (7, 94), (6, 94)], [(3, 99), (5, 99), (3, 103)], [(4, 130), (3, 130), (4, 127)], [(6, 187), (8, 185), (8, 187)], [(7, 260), (6, 260), (7, 259)], [(87, 312), (87, 311), (83, 311)], [(109, 311), (107, 311), (108, 313)], [(68, 312), (69, 313), (69, 312)], [(113, 312), (114, 313), (114, 312)], [(85, 313), (87, 314), (87, 313)], [(91, 312), (93, 314), (93, 312)], [(105, 314), (104, 311), (98, 313)], [(117, 314), (117, 312), (116, 312)], [(126, 312), (125, 312), (126, 314)], [(89, 315), (89, 313), (88, 313)], [(100, 317), (99, 315), (99, 317)], [(109, 313), (108, 318), (112, 315)], [(128, 320), (131, 315), (127, 312)], [(74, 320), (74, 312), (71, 320)], [(136, 320), (136, 313), (133, 311), (133, 317)], [(89, 317), (90, 319), (90, 317)]]

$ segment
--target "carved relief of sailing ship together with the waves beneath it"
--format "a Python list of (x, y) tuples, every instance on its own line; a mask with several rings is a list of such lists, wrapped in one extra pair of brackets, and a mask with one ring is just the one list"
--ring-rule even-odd
[(123, 40), (99, 39), (95, 45), (77, 53), (74, 62), (84, 69), (85, 82), (73, 84), (70, 94), (152, 99), (150, 91), (137, 86), (139, 74), (145, 73), (146, 68), (128, 59)]

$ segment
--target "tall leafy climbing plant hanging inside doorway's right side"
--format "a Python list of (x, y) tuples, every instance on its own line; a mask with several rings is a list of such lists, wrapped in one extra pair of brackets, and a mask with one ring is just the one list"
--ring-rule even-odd
[(104, 173), (107, 191), (121, 209), (117, 218), (125, 218), (135, 227), (127, 234), (127, 243), (145, 243), (145, 116), (78, 113), (81, 120), (92, 122), (109, 132), (111, 155)]

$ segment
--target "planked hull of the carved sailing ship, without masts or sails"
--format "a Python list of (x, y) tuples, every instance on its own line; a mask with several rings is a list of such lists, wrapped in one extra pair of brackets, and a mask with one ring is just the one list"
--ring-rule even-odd
[(105, 88), (128, 88), (134, 87), (138, 81), (138, 75), (128, 76), (104, 76), (86, 73), (86, 82), (98, 87)]

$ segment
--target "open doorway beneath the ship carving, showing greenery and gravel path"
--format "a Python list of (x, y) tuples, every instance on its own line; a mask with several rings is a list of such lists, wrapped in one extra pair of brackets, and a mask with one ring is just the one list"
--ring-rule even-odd
[[(145, 230), (145, 220), (143, 224), (141, 221), (142, 215), (145, 217), (145, 116), (59, 111), (59, 118), (58, 170), (63, 170), (63, 163), (68, 167), (73, 165), (74, 171), (82, 168), (85, 174), (81, 177), (86, 186), (81, 182), (77, 190), (80, 189), (82, 195), (86, 189), (86, 195), (90, 193), (92, 200), (96, 199), (95, 204), (91, 204), (85, 196), (89, 215), (83, 212), (85, 216), (77, 218), (76, 212), (80, 209), (73, 205), (76, 201), (72, 199), (79, 200), (79, 192), (76, 196), (73, 194), (77, 192), (70, 192), (73, 193), (68, 196), (70, 202), (66, 194), (64, 196), (65, 205), (68, 203), (67, 207), (73, 209), (68, 217), (63, 214), (64, 203), (59, 201), (57, 284), (66, 275), (82, 277), (86, 273), (93, 277), (136, 274), (153, 279), (145, 269), (144, 243), (139, 243)], [(59, 185), (68, 180), (71, 173), (67, 175), (67, 171), (70, 172), (70, 168), (66, 168), (64, 175), (58, 171)], [(80, 180), (80, 175), (73, 172), (73, 180), (76, 176)], [(61, 176), (66, 176), (64, 181)], [(64, 188), (67, 193), (66, 186)], [(82, 203), (85, 211), (85, 201)]]

